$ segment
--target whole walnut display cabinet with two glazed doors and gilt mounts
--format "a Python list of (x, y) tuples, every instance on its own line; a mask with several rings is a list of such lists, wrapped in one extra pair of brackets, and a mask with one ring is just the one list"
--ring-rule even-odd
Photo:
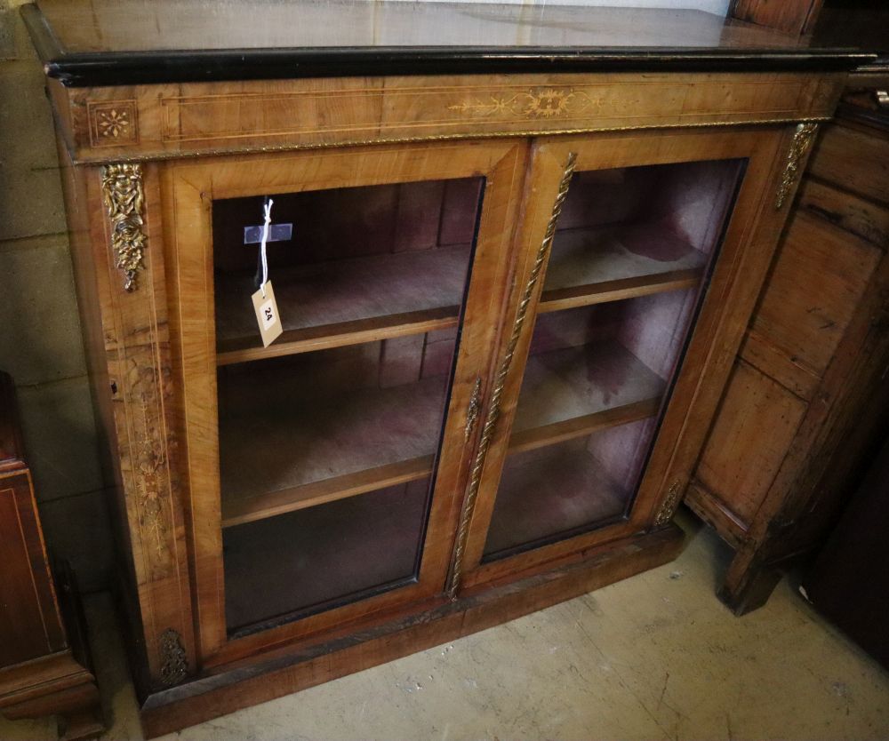
[(861, 58), (701, 12), (23, 12), (148, 736), (677, 554), (797, 175)]

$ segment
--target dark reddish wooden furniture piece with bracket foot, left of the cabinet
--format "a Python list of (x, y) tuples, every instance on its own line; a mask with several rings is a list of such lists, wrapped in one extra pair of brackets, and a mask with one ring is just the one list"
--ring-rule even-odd
[(0, 371), (0, 713), (58, 714), (66, 741), (95, 738), (104, 725), (84, 621), (70, 576), (56, 599), (18, 419)]

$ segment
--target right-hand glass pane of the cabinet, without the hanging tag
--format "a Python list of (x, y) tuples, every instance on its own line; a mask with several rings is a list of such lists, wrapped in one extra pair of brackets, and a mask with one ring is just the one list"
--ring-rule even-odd
[(743, 166), (573, 175), (483, 561), (629, 513)]

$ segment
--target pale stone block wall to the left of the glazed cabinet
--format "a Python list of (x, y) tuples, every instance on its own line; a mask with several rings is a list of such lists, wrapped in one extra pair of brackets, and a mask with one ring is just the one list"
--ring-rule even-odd
[(84, 591), (108, 586), (111, 532), (44, 74), (0, 0), (0, 368), (18, 388), (49, 549)]

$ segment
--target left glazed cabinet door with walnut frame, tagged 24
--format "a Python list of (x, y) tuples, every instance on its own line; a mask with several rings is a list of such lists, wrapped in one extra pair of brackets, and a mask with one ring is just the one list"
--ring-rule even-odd
[[(166, 167), (205, 666), (444, 591), (526, 148)], [(283, 333), (264, 347), (267, 205)]]

